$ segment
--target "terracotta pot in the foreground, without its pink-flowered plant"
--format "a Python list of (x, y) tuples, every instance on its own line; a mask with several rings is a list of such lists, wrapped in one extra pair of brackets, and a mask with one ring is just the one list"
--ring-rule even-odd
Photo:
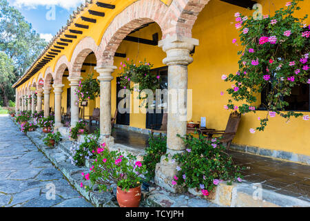
[(121, 207), (138, 207), (141, 200), (141, 186), (122, 191), (117, 186), (116, 198), (119, 206)]

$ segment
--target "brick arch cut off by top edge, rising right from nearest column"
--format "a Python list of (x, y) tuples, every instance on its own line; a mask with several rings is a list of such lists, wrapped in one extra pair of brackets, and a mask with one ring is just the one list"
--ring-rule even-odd
[(199, 15), (210, 0), (174, 0), (164, 19), (163, 39), (172, 37), (192, 37), (192, 28)]

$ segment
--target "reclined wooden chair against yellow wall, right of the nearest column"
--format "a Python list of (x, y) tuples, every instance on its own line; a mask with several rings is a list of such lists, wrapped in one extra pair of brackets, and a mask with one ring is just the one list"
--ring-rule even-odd
[(231, 141), (234, 139), (234, 136), (237, 133), (240, 119), (241, 119), (240, 113), (238, 113), (237, 111), (232, 112), (229, 115), (225, 131), (211, 131), (209, 129), (206, 130), (200, 129), (200, 133), (202, 133), (203, 135), (207, 135), (208, 139), (211, 139), (213, 135), (221, 135), (220, 141), (223, 143), (227, 143), (227, 150), (229, 150)]

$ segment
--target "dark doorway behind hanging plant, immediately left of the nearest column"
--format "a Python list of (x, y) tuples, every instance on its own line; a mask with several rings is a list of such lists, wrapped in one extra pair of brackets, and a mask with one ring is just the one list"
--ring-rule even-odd
[[(167, 68), (167, 66), (153, 69), (152, 73), (154, 73), (155, 75), (161, 76), (161, 90), (168, 89), (168, 68)], [(150, 129), (150, 128), (152, 128), (151, 125), (156, 125), (153, 128), (155, 130), (158, 130), (159, 128), (161, 128), (161, 122), (163, 121), (163, 113), (165, 110), (165, 106), (167, 105), (167, 104), (164, 104), (163, 95), (161, 97), (161, 101), (159, 102), (159, 104), (156, 104), (156, 98), (154, 97), (154, 104), (153, 105), (155, 108), (154, 112), (149, 113), (147, 111), (147, 113), (146, 113), (146, 125), (145, 125), (145, 127)], [(161, 110), (161, 113), (156, 113), (156, 109)], [(157, 111), (157, 112), (159, 112), (159, 111)]]

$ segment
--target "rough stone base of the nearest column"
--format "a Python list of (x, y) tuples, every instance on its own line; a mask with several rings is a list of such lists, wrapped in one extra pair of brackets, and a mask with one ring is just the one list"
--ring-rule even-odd
[(174, 176), (177, 174), (176, 166), (178, 166), (178, 163), (172, 157), (163, 155), (161, 162), (156, 164), (155, 184), (172, 193), (183, 193), (184, 189), (182, 186), (172, 185), (172, 180), (174, 180)]

